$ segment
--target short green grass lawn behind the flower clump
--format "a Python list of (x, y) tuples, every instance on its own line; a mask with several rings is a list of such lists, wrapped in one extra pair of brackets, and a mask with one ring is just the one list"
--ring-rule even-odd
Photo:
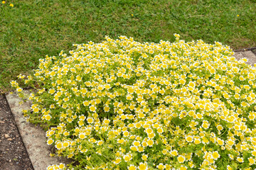
[(255, 0), (6, 1), (0, 4), (0, 92), (11, 90), (9, 81), (31, 72), (45, 55), (105, 35), (159, 42), (174, 41), (178, 33), (186, 41), (255, 47), (255, 16)]

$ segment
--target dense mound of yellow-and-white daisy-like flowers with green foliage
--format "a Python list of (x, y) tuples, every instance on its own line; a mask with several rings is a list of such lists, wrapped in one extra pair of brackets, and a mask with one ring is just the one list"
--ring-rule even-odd
[(174, 35), (75, 44), (18, 76), (36, 84), (29, 120), (79, 162), (48, 169), (256, 168), (255, 67), (220, 42)]

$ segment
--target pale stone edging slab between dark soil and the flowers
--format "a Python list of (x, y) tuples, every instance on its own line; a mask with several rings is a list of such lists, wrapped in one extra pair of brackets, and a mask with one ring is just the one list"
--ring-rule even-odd
[[(25, 91), (29, 93), (29, 91)], [(23, 143), (28, 152), (29, 158), (35, 170), (46, 169), (51, 164), (68, 163), (69, 161), (60, 157), (50, 157), (51, 147), (46, 144), (46, 132), (39, 126), (33, 125), (26, 121), (23, 116), (23, 110), (29, 110), (31, 101), (21, 103), (21, 98), (16, 93), (7, 94), (11, 112), (14, 114), (16, 125), (21, 134)]]

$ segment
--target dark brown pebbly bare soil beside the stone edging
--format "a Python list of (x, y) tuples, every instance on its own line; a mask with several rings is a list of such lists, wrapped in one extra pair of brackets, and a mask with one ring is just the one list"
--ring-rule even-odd
[(0, 169), (33, 170), (14, 116), (4, 95), (0, 94)]

